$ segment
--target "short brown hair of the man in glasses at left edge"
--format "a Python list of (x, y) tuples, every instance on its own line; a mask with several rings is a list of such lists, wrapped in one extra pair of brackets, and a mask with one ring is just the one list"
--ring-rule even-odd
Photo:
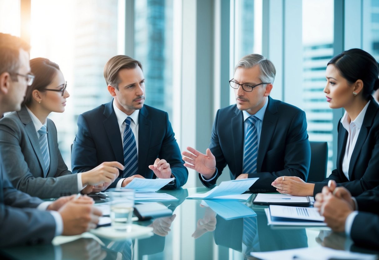
[(19, 37), (0, 33), (0, 75), (20, 68), (20, 49), (30, 52), (30, 45)]

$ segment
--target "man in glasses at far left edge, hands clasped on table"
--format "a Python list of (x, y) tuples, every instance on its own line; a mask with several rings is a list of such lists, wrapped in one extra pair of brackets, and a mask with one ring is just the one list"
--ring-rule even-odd
[[(20, 38), (0, 33), (0, 113), (17, 111), (30, 73), (30, 46)], [(0, 160), (0, 247), (50, 243), (56, 235), (78, 235), (99, 222), (101, 212), (87, 196), (61, 197), (51, 202), (16, 190)]]

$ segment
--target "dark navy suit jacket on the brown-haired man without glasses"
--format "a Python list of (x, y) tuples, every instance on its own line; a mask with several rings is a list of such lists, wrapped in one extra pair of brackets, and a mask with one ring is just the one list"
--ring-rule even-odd
[[(174, 132), (168, 120), (168, 114), (156, 108), (144, 105), (138, 116), (138, 172), (146, 179), (156, 176), (149, 165), (157, 158), (165, 159), (175, 176), (175, 185), (166, 188), (179, 188), (188, 179), (188, 170)], [(71, 153), (73, 172), (84, 172), (105, 161), (118, 161), (124, 165), (120, 128), (113, 109), (113, 101), (103, 104), (78, 117), (78, 132)], [(122, 176), (110, 188), (115, 187)]]

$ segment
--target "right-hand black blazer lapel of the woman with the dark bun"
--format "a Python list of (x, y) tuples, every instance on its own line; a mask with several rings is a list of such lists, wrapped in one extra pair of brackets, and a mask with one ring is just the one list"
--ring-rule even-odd
[(370, 104), (368, 104), (365, 117), (363, 118), (362, 127), (360, 128), (360, 131), (359, 131), (357, 143), (354, 146), (354, 150), (351, 154), (350, 163), (349, 163), (349, 179), (352, 178), (352, 174), (354, 172), (354, 166), (356, 165), (359, 154), (362, 150), (362, 146), (367, 139), (367, 135), (370, 132), (370, 128), (373, 125), (373, 120), (378, 109), (379, 109), (379, 106), (377, 105), (375, 100), (371, 99)]

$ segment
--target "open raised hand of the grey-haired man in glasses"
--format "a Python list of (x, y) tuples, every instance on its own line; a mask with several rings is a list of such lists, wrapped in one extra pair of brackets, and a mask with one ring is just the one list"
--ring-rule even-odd
[(216, 158), (211, 150), (208, 148), (206, 154), (200, 153), (192, 147), (187, 147), (187, 150), (189, 152), (182, 152), (183, 161), (187, 162), (184, 166), (199, 172), (205, 179), (210, 179), (216, 172)]

